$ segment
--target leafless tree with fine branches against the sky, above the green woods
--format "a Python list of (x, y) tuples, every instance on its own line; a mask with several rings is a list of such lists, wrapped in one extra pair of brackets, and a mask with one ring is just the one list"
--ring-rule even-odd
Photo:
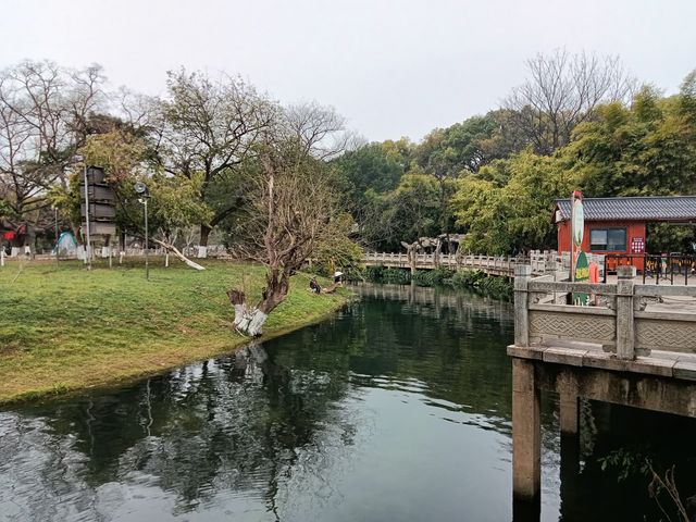
[(505, 100), (511, 122), (542, 154), (550, 154), (570, 141), (573, 128), (592, 117), (600, 103), (625, 101), (635, 90), (635, 78), (619, 57), (569, 54), (559, 49), (527, 60), (530, 76)]

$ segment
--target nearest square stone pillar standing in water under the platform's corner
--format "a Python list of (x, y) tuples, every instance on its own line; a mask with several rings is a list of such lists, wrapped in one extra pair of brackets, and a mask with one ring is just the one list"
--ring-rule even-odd
[(512, 358), (512, 495), (539, 506), (542, 426), (534, 362)]

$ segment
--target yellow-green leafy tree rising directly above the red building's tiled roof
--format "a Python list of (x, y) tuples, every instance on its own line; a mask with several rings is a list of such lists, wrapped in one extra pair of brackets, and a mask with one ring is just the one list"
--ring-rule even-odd
[[(692, 80), (693, 82), (693, 80)], [(696, 120), (689, 83), (661, 98), (644, 87), (631, 107), (609, 103), (579, 125), (561, 151), (587, 196), (652, 196), (696, 190)]]

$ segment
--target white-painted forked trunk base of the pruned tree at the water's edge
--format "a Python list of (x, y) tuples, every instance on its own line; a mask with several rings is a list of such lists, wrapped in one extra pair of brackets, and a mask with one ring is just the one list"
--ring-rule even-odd
[(265, 275), (266, 287), (262, 299), (256, 307), (247, 303), (244, 291), (231, 289), (227, 291), (229, 302), (235, 308), (235, 328), (244, 335), (260, 336), (269, 313), (285, 300), (290, 290), (288, 274), (279, 269), (269, 269)]

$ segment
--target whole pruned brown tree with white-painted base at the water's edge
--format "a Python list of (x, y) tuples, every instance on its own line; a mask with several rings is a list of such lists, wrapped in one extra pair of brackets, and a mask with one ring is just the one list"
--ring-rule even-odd
[(256, 304), (240, 289), (227, 295), (236, 328), (258, 336), (269, 313), (287, 297), (290, 277), (320, 244), (347, 231), (345, 220), (337, 219), (338, 196), (327, 164), (295, 136), (269, 138), (246, 176), (248, 204), (233, 229), (239, 239), (232, 250), (266, 268), (266, 286)]

